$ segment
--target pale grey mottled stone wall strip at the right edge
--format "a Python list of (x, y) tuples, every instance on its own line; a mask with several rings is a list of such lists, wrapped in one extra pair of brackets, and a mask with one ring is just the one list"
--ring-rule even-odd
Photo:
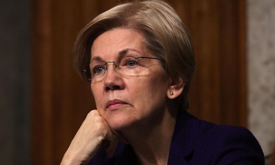
[(248, 127), (265, 155), (275, 141), (275, 1), (247, 0)]

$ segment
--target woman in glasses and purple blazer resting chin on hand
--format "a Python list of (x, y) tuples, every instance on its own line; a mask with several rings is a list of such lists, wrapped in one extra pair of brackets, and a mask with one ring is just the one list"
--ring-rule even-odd
[(125, 3), (100, 14), (79, 33), (75, 54), (97, 109), (61, 164), (264, 164), (247, 129), (186, 112), (194, 52), (167, 3)]

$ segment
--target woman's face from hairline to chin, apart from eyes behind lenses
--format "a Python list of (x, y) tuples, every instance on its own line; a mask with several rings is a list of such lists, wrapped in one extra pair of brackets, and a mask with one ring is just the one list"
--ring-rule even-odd
[[(112, 62), (121, 54), (154, 57), (143, 40), (135, 30), (107, 31), (93, 42), (91, 59)], [(164, 110), (168, 82), (158, 60), (139, 58), (139, 66), (131, 70), (132, 75), (118, 72), (114, 63), (107, 66), (103, 77), (92, 80), (91, 89), (99, 113), (114, 130), (150, 121)]]

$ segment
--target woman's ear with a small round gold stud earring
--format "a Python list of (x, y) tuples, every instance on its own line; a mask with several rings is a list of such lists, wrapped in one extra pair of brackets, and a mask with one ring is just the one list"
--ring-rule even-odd
[(167, 93), (166, 93), (167, 97), (169, 99), (175, 99), (182, 93), (183, 89), (184, 89), (183, 80), (180, 80), (178, 84), (174, 84), (171, 80), (167, 88)]

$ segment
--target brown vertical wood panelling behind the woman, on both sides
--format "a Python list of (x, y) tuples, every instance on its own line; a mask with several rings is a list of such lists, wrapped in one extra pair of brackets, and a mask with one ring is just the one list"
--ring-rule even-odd
[[(32, 1), (32, 164), (59, 164), (95, 109), (89, 84), (72, 67), (77, 32), (121, 1)], [(191, 31), (196, 71), (190, 112), (217, 124), (246, 125), (245, 8), (237, 0), (170, 0)]]

